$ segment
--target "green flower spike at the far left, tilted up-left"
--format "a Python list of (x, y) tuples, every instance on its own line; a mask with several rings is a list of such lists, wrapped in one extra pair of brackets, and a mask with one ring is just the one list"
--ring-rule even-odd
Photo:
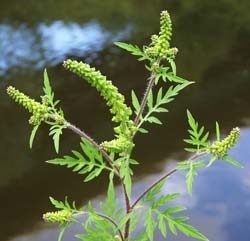
[(41, 121), (45, 121), (49, 117), (50, 108), (40, 102), (31, 99), (29, 96), (20, 92), (12, 86), (7, 88), (7, 94), (18, 104), (22, 105), (33, 115), (30, 117), (29, 123), (38, 125)]

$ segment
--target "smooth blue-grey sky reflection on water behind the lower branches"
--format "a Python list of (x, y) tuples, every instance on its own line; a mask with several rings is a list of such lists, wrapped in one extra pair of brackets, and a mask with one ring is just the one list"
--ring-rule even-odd
[[(196, 178), (193, 196), (187, 194), (183, 173), (172, 176), (163, 192), (180, 192), (181, 198), (176, 204), (185, 205), (190, 216), (190, 222), (207, 235), (210, 240), (248, 241), (250, 236), (250, 128), (242, 130), (239, 144), (231, 151), (231, 155), (241, 160), (244, 169), (236, 169), (227, 163), (218, 162), (209, 169), (204, 169)], [(173, 163), (174, 165), (174, 163)], [(170, 168), (169, 160), (163, 166), (163, 171)], [(162, 173), (147, 176), (135, 185), (135, 193), (141, 193), (145, 187)], [(99, 201), (96, 198), (95, 201)], [(65, 240), (73, 241), (73, 234), (81, 232), (80, 226), (74, 226), (66, 233)], [(46, 241), (56, 240), (58, 230), (41, 225), (39, 231), (25, 235), (12, 241)], [(156, 234), (157, 241), (165, 240)], [(170, 241), (188, 241), (180, 235), (169, 236)]]

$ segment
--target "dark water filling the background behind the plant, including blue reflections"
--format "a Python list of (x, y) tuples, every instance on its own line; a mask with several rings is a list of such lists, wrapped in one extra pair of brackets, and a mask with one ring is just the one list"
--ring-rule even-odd
[[(135, 193), (184, 159), (185, 110), (213, 130), (218, 120), (228, 133), (242, 128), (232, 155), (245, 168), (217, 164), (200, 173), (190, 198), (183, 175), (171, 178), (166, 191), (183, 193), (191, 223), (211, 241), (249, 241), (250, 237), (250, 2), (243, 1), (0, 1), (0, 240), (56, 240), (57, 230), (41, 221), (51, 210), (48, 196), (100, 200), (105, 177), (83, 184), (82, 177), (44, 161), (55, 157), (46, 126), (29, 150), (28, 115), (5, 94), (8, 85), (39, 98), (46, 67), (66, 118), (97, 141), (112, 137), (110, 115), (101, 98), (61, 63), (70, 57), (87, 61), (103, 73), (130, 101), (130, 89), (143, 94), (148, 73), (143, 64), (114, 48), (113, 41), (138, 45), (158, 31), (159, 13), (172, 15), (173, 45), (179, 49), (179, 75), (196, 81), (162, 116), (165, 127), (149, 127), (147, 138), (137, 137)], [(65, 131), (61, 155), (78, 148), (79, 139)], [(79, 227), (74, 227), (78, 229)], [(74, 240), (72, 232), (65, 240)], [(156, 240), (163, 240), (157, 236)], [(169, 240), (187, 241), (182, 236)]]

